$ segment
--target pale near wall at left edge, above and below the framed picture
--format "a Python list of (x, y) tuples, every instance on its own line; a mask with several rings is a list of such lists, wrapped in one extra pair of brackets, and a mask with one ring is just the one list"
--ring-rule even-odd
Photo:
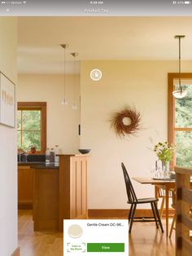
[[(0, 70), (17, 82), (16, 18), (0, 17)], [(0, 255), (17, 248), (16, 130), (0, 125)]]

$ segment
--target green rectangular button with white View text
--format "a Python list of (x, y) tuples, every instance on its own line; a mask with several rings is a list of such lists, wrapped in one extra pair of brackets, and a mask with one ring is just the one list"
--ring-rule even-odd
[(88, 243), (88, 253), (124, 253), (124, 243)]

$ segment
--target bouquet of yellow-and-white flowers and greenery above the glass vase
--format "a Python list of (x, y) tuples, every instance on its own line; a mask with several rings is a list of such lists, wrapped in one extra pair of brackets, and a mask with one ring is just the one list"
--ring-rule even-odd
[(172, 160), (173, 152), (175, 151), (176, 144), (168, 144), (167, 141), (164, 143), (159, 142), (154, 147), (154, 152), (156, 153), (157, 157), (160, 161), (166, 164), (168, 161)]

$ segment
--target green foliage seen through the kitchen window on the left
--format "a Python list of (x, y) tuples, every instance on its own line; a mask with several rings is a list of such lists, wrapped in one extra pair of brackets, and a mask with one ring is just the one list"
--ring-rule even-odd
[(30, 145), (34, 144), (37, 150), (41, 150), (41, 111), (19, 110), (17, 117), (18, 148), (27, 151)]

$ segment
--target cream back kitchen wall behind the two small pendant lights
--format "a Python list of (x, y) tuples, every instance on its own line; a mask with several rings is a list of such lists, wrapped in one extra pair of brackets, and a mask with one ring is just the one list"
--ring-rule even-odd
[[(61, 104), (63, 99), (62, 75), (20, 74), (18, 77), (18, 101), (47, 102), (47, 146), (56, 144), (65, 153), (77, 152), (79, 148), (78, 125), (80, 109), (72, 110), (73, 76), (66, 76), (66, 97), (68, 105)], [(76, 76), (76, 101), (79, 104), (79, 76)]]

